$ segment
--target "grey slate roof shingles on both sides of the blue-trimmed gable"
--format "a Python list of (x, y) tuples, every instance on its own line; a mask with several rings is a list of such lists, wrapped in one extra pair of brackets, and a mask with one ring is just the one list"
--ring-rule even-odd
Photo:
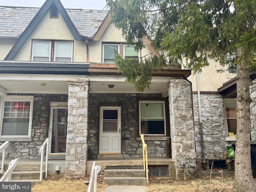
[[(40, 8), (0, 6), (0, 38), (18, 37)], [(92, 37), (108, 14), (108, 10), (66, 9), (82, 36)]]

